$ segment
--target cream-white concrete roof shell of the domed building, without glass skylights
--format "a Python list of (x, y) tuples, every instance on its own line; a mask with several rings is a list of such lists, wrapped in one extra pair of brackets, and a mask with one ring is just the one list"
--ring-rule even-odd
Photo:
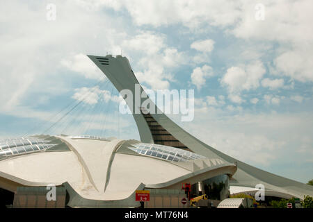
[[(131, 143), (122, 139), (57, 138), (68, 146), (67, 151), (48, 152), (47, 149), (0, 160), (0, 187), (1, 177), (27, 186), (67, 182), (81, 198), (122, 200), (142, 185), (160, 188), (180, 186), (183, 180), (194, 178), (198, 181), (199, 176), (236, 171), (236, 167), (223, 162), (211, 166), (201, 162), (209, 160), (184, 160), (181, 164), (141, 155), (136, 153)], [(214, 173), (209, 174), (209, 171)]]

